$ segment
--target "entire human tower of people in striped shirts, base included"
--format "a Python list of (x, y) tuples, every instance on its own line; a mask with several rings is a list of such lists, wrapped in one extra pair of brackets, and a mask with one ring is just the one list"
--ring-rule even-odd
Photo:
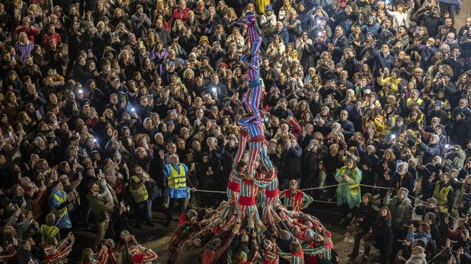
[[(211, 241), (201, 245), (203, 263), (216, 261), (213, 260), (218, 255), (216, 252), (230, 244), (221, 241), (215, 243), (215, 240), (220, 239), (218, 235), (223, 231), (229, 232), (230, 227), (233, 231), (237, 229), (240, 243), (239, 248), (227, 247), (228, 252), (224, 255), (227, 255), (228, 263), (278, 263), (279, 258), (290, 260), (291, 263), (330, 263), (333, 242), (329, 231), (318, 218), (301, 212), (312, 198), (298, 190), (295, 180), (290, 181), (290, 189), (278, 191), (278, 176), (268, 158), (265, 143), (265, 113), (260, 110), (264, 92), (260, 80), (262, 34), (256, 20), (256, 15), (248, 11), (245, 18), (237, 22), (238, 25), (247, 26), (250, 36), (250, 53), (240, 58), (248, 68), (248, 90), (244, 99), (247, 114), (238, 120), (238, 152), (229, 176), (228, 202), (223, 202), (211, 216), (208, 225), (195, 231), (190, 238), (203, 241), (200, 239), (203, 233), (214, 233)], [(248, 155), (245, 156), (247, 143)], [(283, 197), (283, 204), (280, 203), (280, 197)], [(248, 235), (252, 238), (250, 246), (243, 246), (244, 236)], [(235, 238), (229, 236), (229, 239)], [(287, 241), (288, 247), (278, 245), (280, 239)], [(183, 243), (181, 241), (180, 244)]]

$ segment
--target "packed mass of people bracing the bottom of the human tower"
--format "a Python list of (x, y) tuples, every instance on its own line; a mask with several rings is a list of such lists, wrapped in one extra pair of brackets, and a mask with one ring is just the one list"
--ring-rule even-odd
[[(234, 204), (208, 208), (203, 220), (188, 219), (171, 236), (171, 263), (186, 263), (186, 250), (196, 250), (198, 263), (337, 263), (330, 232), (319, 219), (291, 211), (280, 203), (269, 211), (248, 213), (243, 221)], [(191, 214), (188, 212), (188, 214)], [(182, 239), (183, 236), (183, 239)]]

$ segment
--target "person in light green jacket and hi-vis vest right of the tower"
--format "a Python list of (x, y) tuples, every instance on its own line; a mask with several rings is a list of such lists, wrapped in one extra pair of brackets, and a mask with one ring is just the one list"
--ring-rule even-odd
[(343, 225), (348, 213), (355, 214), (355, 208), (360, 205), (361, 192), (361, 170), (358, 169), (355, 159), (347, 159), (346, 166), (341, 167), (335, 174), (335, 179), (339, 182), (337, 187), (337, 205), (341, 206)]

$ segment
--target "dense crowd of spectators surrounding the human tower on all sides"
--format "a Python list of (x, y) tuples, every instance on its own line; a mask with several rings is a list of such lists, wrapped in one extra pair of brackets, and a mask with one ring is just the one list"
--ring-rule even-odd
[[(179, 227), (186, 240), (173, 245), (175, 261), (182, 248), (211, 255), (240, 237), (250, 249), (237, 261), (252, 263), (253, 244), (236, 235), (255, 234), (254, 226), (273, 241), (289, 237), (285, 251), (296, 254), (300, 237), (315, 241), (288, 228), (300, 221), (312, 231), (317, 223), (300, 213), (302, 204), (265, 208), (270, 224), (247, 211), (232, 231), (215, 231), (223, 233), (217, 239), (186, 237), (231, 204), (198, 190), (232, 184), (238, 121), (248, 117), (244, 98), (253, 86), (241, 60), (254, 45), (240, 23), (251, 12), (263, 35), (256, 45), (265, 140), (257, 143), (273, 164), (271, 179), (281, 190), (325, 186), (303, 197), (336, 202), (340, 224), (358, 227), (352, 261), (368, 237), (364, 261), (374, 245), (381, 263), (426, 263), (442, 248), (449, 263), (470, 263), (471, 17), (456, 20), (460, 4), (2, 1), (0, 261), (65, 263), (71, 232), (89, 226), (96, 231), (83, 263), (113, 261), (111, 239), (136, 263), (152, 261), (155, 253), (127, 230), (153, 226), (160, 204), (166, 226), (174, 211), (218, 208)], [(411, 221), (412, 211), (422, 221)], [(290, 223), (281, 228), (278, 218)], [(264, 250), (276, 248), (265, 241)], [(319, 261), (335, 262), (325, 243)], [(280, 263), (300, 261), (273, 254)]]

